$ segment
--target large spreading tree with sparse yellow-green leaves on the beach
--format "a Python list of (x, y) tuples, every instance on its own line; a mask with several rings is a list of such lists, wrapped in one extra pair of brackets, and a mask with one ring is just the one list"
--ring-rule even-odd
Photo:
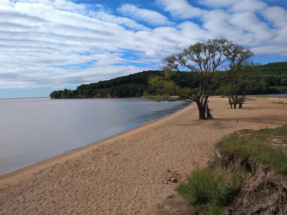
[[(164, 75), (149, 79), (153, 92), (146, 93), (146, 96), (156, 101), (189, 99), (197, 104), (200, 120), (210, 118), (208, 97), (218, 87), (230, 82), (236, 74), (244, 72), (253, 56), (250, 48), (224, 38), (197, 42), (181, 53), (162, 59), (160, 67)], [(185, 70), (188, 72), (183, 72)], [(193, 73), (199, 85), (190, 84), (188, 73)], [(171, 95), (177, 95), (178, 98), (171, 99)]]

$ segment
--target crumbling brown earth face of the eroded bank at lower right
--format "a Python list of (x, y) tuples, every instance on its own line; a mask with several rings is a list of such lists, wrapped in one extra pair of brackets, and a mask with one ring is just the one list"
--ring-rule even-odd
[(236, 170), (236, 163), (246, 168), (246, 177), (236, 193), (230, 214), (287, 214), (287, 179), (273, 175), (271, 169), (252, 159), (224, 155), (216, 148), (219, 165)]

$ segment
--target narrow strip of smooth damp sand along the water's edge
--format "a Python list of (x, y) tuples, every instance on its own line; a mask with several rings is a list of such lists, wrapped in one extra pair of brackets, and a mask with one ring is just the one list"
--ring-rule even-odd
[[(115, 134), (113, 136), (110, 136), (108, 138), (105, 138), (103, 140), (100, 140), (98, 142), (94, 142), (94, 143), (91, 143), (91, 144), (88, 144), (86, 146), (82, 146), (82, 147), (79, 147), (79, 148), (75, 148), (75, 149), (72, 149), (70, 151), (67, 151), (67, 152), (64, 152), (60, 155), (57, 155), (57, 156), (54, 156), (54, 157), (51, 157), (51, 158), (48, 158), (46, 160), (43, 160), (43, 161), (39, 161), (37, 163), (34, 163), (32, 165), (29, 165), (27, 167), (23, 167), (23, 168), (20, 168), (20, 169), (17, 169), (17, 170), (14, 170), (12, 172), (9, 172), (9, 173), (6, 173), (4, 175), (0, 175), (0, 187), (3, 185), (3, 183), (5, 184), (5, 179), (7, 180), (8, 177), (12, 177), (12, 176), (17, 176), (17, 174), (20, 174), (20, 176), (17, 176), (18, 178), (17, 179), (13, 179), (13, 180), (18, 180), (20, 179), (21, 177), (24, 177), (25, 175), (28, 175), (30, 172), (31, 172), (31, 169), (33, 170), (33, 168), (37, 168), (37, 166), (41, 166), (41, 165), (44, 165), (43, 167), (39, 167), (37, 169), (42, 169), (42, 168), (45, 168), (45, 164), (46, 163), (49, 163), (49, 162), (55, 162), (57, 161), (57, 159), (63, 159), (64, 157), (67, 158), (67, 156), (73, 156), (74, 153), (77, 153), (77, 152), (81, 152), (82, 150), (87, 150), (88, 148), (94, 146), (94, 145), (97, 145), (97, 144), (101, 144), (102, 142), (106, 142), (108, 140), (112, 140), (113, 138), (120, 138), (122, 135), (126, 135), (126, 134), (129, 134), (130, 132), (133, 132), (134, 130), (136, 131), (136, 129), (139, 129), (141, 127), (144, 127), (144, 126), (148, 126), (149, 124), (152, 124), (152, 123), (155, 123), (155, 122), (158, 122), (160, 120), (163, 120), (164, 118), (167, 118), (171, 115), (174, 115), (174, 114), (177, 114), (178, 112), (188, 108), (189, 106), (193, 105), (194, 102), (192, 102), (190, 105), (188, 105), (187, 107), (184, 107), (184, 108), (181, 108), (180, 110), (177, 110), (176, 112), (172, 113), (172, 114), (169, 114), (167, 116), (164, 116), (158, 120), (154, 120), (152, 122), (147, 122), (143, 125), (140, 125), (140, 126), (137, 126), (135, 128), (132, 128), (132, 129), (129, 129), (125, 132), (122, 132), (122, 133), (119, 133), (119, 134)], [(53, 165), (53, 163), (49, 163), (48, 165)], [(21, 175), (22, 172), (25, 172), (27, 171), (25, 174)], [(3, 182), (4, 181), (4, 182)]]

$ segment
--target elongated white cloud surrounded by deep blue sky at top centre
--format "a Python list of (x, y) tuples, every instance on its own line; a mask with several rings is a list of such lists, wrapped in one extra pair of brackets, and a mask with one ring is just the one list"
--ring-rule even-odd
[(173, 22), (157, 11), (141, 9), (132, 4), (124, 4), (117, 11), (139, 21), (145, 21), (152, 25), (171, 25)]

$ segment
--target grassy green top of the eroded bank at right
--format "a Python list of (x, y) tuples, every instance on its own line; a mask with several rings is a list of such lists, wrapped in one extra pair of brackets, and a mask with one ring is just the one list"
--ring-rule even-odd
[(287, 125), (275, 129), (242, 130), (240, 133), (245, 135), (225, 136), (216, 146), (225, 154), (255, 159), (271, 167), (274, 173), (287, 175), (286, 151), (269, 144), (270, 139), (279, 139), (282, 144), (287, 144)]

